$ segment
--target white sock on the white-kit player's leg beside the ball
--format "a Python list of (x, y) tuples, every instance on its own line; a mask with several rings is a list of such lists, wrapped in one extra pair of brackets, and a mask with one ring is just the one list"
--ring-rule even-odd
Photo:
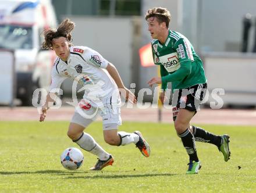
[(97, 144), (94, 138), (87, 133), (83, 133), (81, 137), (79, 137), (77, 140), (74, 140), (73, 142), (76, 142), (84, 150), (97, 155), (100, 160), (107, 160), (109, 158), (110, 154), (102, 149), (102, 147)]

